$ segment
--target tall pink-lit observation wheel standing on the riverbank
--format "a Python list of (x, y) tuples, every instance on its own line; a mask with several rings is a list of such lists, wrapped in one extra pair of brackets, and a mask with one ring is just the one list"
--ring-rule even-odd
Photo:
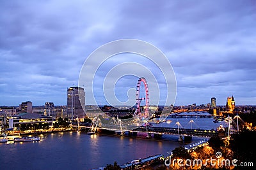
[[(141, 81), (144, 84), (144, 88), (145, 88), (145, 98), (140, 98), (140, 85), (141, 85)], [(138, 80), (137, 83), (137, 88), (136, 88), (136, 115), (139, 115), (140, 112), (140, 101), (145, 99), (146, 104), (145, 104), (145, 115), (144, 118), (148, 117), (148, 106), (149, 106), (149, 93), (148, 93), (148, 84), (145, 78), (141, 77)]]

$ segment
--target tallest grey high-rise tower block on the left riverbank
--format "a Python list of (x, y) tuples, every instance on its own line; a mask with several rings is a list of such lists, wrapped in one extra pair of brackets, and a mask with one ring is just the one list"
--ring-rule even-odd
[(67, 89), (67, 116), (71, 120), (85, 117), (85, 92), (82, 87)]

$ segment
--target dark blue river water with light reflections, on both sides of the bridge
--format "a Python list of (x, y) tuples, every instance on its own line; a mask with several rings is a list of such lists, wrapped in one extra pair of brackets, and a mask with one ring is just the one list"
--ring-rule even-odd
[[(172, 122), (154, 124), (175, 127)], [(190, 126), (191, 118), (179, 118), (181, 125)], [(213, 118), (192, 118), (193, 128), (214, 129), (220, 123)], [(188, 128), (188, 127), (187, 127)], [(178, 142), (178, 136), (163, 136), (163, 139), (131, 138), (104, 134), (88, 135), (86, 132), (56, 132), (41, 134), (41, 141), (28, 143), (0, 143), (1, 169), (93, 169), (113, 164), (124, 164), (134, 159), (150, 155), (168, 155), (178, 146), (188, 143)], [(205, 138), (193, 137), (191, 143)]]

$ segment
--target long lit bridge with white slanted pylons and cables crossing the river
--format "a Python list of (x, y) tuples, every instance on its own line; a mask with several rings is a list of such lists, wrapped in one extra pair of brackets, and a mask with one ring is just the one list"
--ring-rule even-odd
[[(92, 124), (81, 124), (77, 122), (77, 125), (72, 125), (74, 129), (87, 129), (88, 134), (94, 134), (95, 132), (99, 132), (102, 130), (120, 132), (120, 135), (125, 134), (137, 134), (137, 133), (145, 133), (145, 134), (154, 134), (158, 136), (165, 135), (177, 135), (177, 136), (198, 136), (198, 137), (207, 137), (211, 138), (212, 136), (218, 136), (218, 129), (200, 129), (196, 128), (195, 125), (193, 128), (193, 124), (195, 122), (190, 120), (186, 125), (187, 128), (182, 127), (180, 122), (176, 122), (175, 125), (177, 127), (159, 127), (152, 126), (147, 121), (143, 125), (130, 124), (124, 125), (124, 122), (121, 118), (111, 118), (111, 124), (102, 124), (100, 117), (94, 117), (92, 119)], [(227, 138), (230, 139), (230, 135), (234, 132), (239, 132), (241, 125), (244, 125), (243, 120), (236, 115), (234, 118), (227, 117), (224, 120), (224, 123), (227, 124), (228, 134)]]

